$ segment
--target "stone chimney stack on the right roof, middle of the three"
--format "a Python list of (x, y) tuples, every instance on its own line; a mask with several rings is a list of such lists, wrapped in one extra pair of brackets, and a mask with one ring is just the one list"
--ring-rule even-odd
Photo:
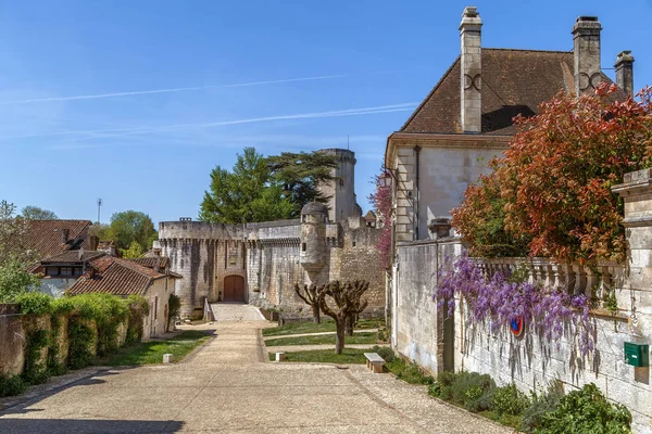
[(579, 16), (573, 27), (575, 60), (575, 93), (591, 92), (600, 81), (600, 30), (597, 16)]

